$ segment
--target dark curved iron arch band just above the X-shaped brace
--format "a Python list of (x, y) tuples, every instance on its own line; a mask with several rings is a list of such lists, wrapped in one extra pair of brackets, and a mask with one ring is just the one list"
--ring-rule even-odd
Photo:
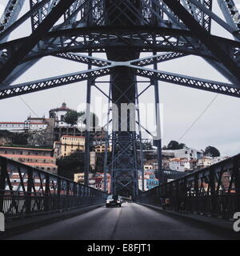
[[(240, 42), (216, 36), (210, 36), (210, 38), (218, 42), (233, 60), (238, 61)], [(2, 59), (6, 62), (11, 53), (17, 51), (26, 39), (20, 38), (0, 45), (0, 50), (4, 53)], [(201, 40), (187, 30), (150, 26), (100, 26), (50, 32), (26, 55), (23, 62), (67, 51), (88, 52), (92, 50), (98, 53), (116, 47), (132, 47), (146, 52), (174, 51), (218, 59), (202, 44)]]

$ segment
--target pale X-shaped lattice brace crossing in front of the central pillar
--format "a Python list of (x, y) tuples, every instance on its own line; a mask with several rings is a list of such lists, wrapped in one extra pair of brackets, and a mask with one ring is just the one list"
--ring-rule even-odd
[(160, 54), (150, 58), (142, 58), (138, 61), (130, 62), (109, 62), (100, 58), (89, 58), (88, 56), (80, 54), (61, 54), (61, 58), (71, 59), (81, 63), (91, 63), (93, 66), (102, 66), (93, 70), (86, 70), (74, 74), (62, 75), (54, 78), (41, 79), (34, 82), (26, 82), (13, 86), (0, 87), (0, 99), (11, 98), (17, 95), (29, 94), (39, 90), (47, 90), (58, 86), (66, 86), (75, 82), (85, 81), (89, 78), (100, 78), (110, 74), (110, 70), (116, 66), (128, 66), (133, 69), (135, 74), (139, 77), (149, 78), (150, 80), (156, 78), (158, 81), (168, 82), (180, 86), (187, 86), (199, 90), (207, 90), (210, 92), (225, 94), (240, 98), (240, 88), (238, 85), (229, 83), (216, 82), (201, 78), (194, 78), (186, 75), (179, 75), (170, 72), (163, 72), (146, 68), (156, 59), (157, 62), (164, 62), (169, 59), (182, 57), (182, 54)]

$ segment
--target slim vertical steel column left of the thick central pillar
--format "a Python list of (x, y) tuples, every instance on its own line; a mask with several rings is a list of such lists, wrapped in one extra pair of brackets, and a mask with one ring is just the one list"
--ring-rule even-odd
[[(92, 53), (89, 53), (92, 56)], [(91, 69), (91, 65), (88, 65), (88, 69)], [(86, 88), (86, 132), (85, 132), (85, 173), (84, 184), (89, 185), (89, 172), (90, 172), (90, 103), (91, 103), (91, 86), (92, 79), (88, 79)]]

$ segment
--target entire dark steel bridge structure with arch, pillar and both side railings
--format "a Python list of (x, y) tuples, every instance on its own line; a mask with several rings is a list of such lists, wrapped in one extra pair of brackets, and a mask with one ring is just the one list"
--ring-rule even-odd
[[(29, 10), (19, 17), (26, 2), (9, 0), (0, 20), (0, 99), (87, 81), (87, 128), (90, 127), (92, 88), (97, 88), (109, 102), (106, 148), (111, 144), (113, 150), (110, 164), (106, 150), (104, 171), (111, 174), (113, 194), (132, 196), (138, 202), (157, 206), (164, 198), (169, 198), (174, 210), (179, 211), (183, 203), (185, 211), (222, 218), (230, 218), (234, 212), (240, 211), (239, 155), (164, 183), (158, 106), (159, 82), (240, 97), (240, 14), (233, 0), (218, 0), (225, 19), (214, 12), (212, 0), (29, 2)], [(10, 34), (29, 20), (30, 35), (10, 40)], [(214, 35), (213, 23), (226, 30), (231, 39)], [(97, 53), (106, 54), (106, 58), (94, 57)], [(141, 53), (148, 54), (148, 57), (140, 58)], [(189, 55), (205, 59), (229, 82), (158, 70), (158, 63)], [(83, 63), (88, 69), (14, 83), (46, 56)], [(109, 76), (109, 94), (106, 94), (97, 79)], [(147, 85), (139, 91), (141, 79), (146, 79)], [(150, 134), (142, 126), (138, 108), (140, 96), (150, 88), (154, 89), (156, 134)], [(115, 114), (113, 105), (118, 109), (122, 105), (134, 106), (134, 115), (129, 114), (128, 108), (123, 118), (123, 110)], [(158, 179), (161, 184), (146, 193), (141, 193), (138, 188), (138, 171), (143, 172), (143, 130), (152, 135), (158, 147)], [(0, 212), (5, 213), (6, 218), (13, 218), (104, 202), (106, 194), (88, 186), (93, 136), (88, 129), (85, 136), (85, 186), (0, 158)], [(18, 186), (11, 176), (14, 173), (20, 178)]]

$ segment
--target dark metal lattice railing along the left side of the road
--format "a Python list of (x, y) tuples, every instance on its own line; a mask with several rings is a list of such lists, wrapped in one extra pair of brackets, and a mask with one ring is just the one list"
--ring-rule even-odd
[(106, 194), (90, 186), (0, 157), (0, 212), (6, 218), (102, 204)]

